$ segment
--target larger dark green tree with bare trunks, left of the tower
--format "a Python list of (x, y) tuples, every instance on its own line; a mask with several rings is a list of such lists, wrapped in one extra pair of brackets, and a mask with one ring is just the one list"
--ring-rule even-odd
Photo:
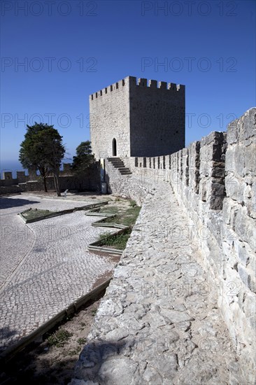
[(47, 192), (46, 178), (52, 174), (58, 196), (59, 167), (64, 158), (65, 148), (62, 137), (53, 125), (36, 123), (27, 125), (24, 141), (20, 144), (20, 162), (24, 168), (36, 169), (43, 178), (43, 186)]

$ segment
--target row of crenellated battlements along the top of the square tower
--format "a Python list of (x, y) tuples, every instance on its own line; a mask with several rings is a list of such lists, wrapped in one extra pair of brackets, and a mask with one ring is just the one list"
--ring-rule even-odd
[(116, 83), (108, 85), (108, 87), (104, 87), (102, 90), (90, 94), (90, 100), (96, 100), (106, 94), (110, 94), (113, 91), (122, 90), (122, 88), (127, 85), (129, 85), (129, 87), (147, 87), (154, 90), (165, 90), (185, 94), (185, 85), (151, 79), (148, 80), (146, 78), (136, 78), (135, 76), (127, 76)]

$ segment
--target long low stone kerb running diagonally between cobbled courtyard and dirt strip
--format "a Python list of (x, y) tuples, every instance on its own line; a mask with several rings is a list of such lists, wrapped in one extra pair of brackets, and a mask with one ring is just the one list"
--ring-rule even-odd
[(81, 306), (86, 304), (89, 300), (92, 300), (94, 297), (97, 297), (102, 291), (104, 291), (112, 278), (106, 279), (103, 283), (101, 283), (99, 286), (94, 288), (90, 291), (90, 293), (87, 293), (83, 295), (82, 297), (78, 298), (78, 300), (72, 302), (69, 307), (66, 307), (66, 309), (60, 311), (58, 314), (56, 314), (54, 317), (52, 317), (49, 321), (46, 321), (43, 323), (43, 325), (39, 326), (36, 330), (29, 333), (29, 335), (26, 335), (22, 339), (20, 339), (16, 344), (13, 344), (12, 346), (9, 346), (0, 354), (0, 363), (6, 362), (10, 360), (10, 358), (13, 358), (16, 353), (24, 349), (28, 344), (31, 344), (31, 342), (34, 342), (39, 337), (42, 337), (46, 332), (54, 328), (57, 323), (60, 323), (64, 320), (65, 316), (71, 316), (74, 314), (78, 309), (80, 309)]

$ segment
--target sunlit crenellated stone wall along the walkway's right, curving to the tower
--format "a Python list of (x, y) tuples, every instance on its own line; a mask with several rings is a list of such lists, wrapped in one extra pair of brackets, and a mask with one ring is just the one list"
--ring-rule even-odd
[(157, 183), (171, 183), (218, 290), (218, 306), (243, 367), (255, 370), (256, 108), (227, 127), (167, 156), (122, 158), (131, 176), (106, 162), (108, 189), (141, 204)]

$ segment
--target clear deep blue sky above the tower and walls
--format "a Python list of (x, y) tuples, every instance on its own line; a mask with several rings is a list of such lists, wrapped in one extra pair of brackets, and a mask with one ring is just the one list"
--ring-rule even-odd
[(72, 158), (89, 94), (128, 75), (185, 84), (190, 144), (255, 106), (255, 2), (2, 1), (1, 57), (2, 170), (41, 117)]

